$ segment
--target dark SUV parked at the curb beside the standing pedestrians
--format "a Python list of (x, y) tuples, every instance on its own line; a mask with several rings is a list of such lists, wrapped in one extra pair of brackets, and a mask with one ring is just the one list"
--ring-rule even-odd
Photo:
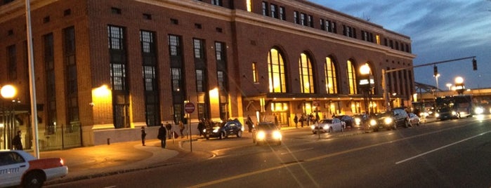
[(210, 137), (218, 137), (218, 139), (223, 139), (229, 135), (237, 135), (237, 137), (242, 137), (244, 126), (242, 126), (242, 123), (240, 123), (238, 120), (214, 122), (211, 126), (208, 126), (202, 131), (207, 140)]

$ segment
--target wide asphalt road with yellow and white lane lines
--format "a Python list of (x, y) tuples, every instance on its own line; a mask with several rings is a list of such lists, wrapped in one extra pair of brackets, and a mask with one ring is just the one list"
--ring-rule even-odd
[(213, 158), (53, 187), (491, 187), (489, 118), (347, 136), (287, 130), (281, 146), (256, 147), (247, 133), (199, 140), (192, 149)]

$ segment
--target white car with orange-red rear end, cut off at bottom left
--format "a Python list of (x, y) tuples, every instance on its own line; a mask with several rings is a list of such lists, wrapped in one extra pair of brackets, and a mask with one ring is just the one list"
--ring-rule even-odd
[(63, 159), (36, 159), (21, 150), (0, 150), (0, 187), (42, 187), (45, 181), (67, 174)]

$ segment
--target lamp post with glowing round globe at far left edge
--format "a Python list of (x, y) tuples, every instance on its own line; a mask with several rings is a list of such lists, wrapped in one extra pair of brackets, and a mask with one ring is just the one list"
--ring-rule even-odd
[[(0, 94), (1, 97), (4, 98), (5, 100), (12, 101), (13, 98), (15, 98), (15, 95), (17, 95), (17, 89), (15, 89), (15, 87), (12, 85), (5, 85), (1, 87)], [(7, 142), (8, 142), (8, 148), (12, 148), (11, 137), (13, 135), (12, 129), (13, 129), (14, 117), (11, 116), (11, 112), (9, 112), (8, 116), (6, 117), (5, 110), (3, 114), (4, 114), (4, 131), (3, 131), (4, 149), (7, 149), (7, 145), (6, 145)]]

